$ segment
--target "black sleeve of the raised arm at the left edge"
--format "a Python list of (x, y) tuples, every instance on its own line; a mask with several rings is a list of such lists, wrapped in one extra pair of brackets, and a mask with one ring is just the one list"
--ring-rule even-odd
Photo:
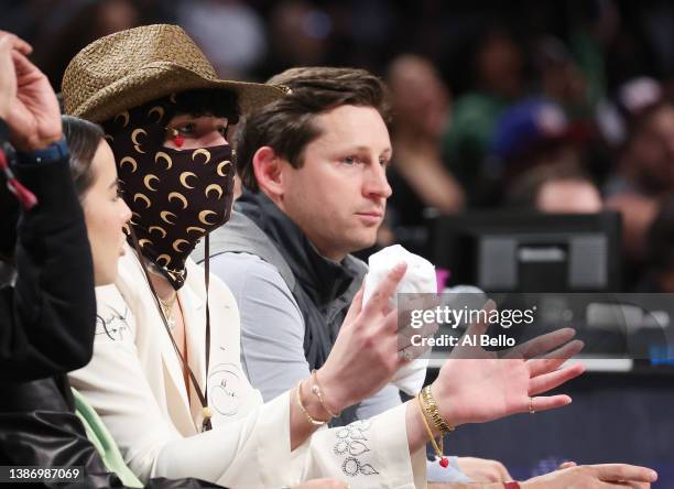
[[(87, 365), (96, 320), (91, 253), (67, 160), (18, 165), (15, 173), (39, 204), (20, 217), (18, 239), (0, 237), (6, 249), (15, 242), (14, 273), (6, 267), (0, 284), (0, 384)], [(2, 210), (4, 224), (15, 218)]]

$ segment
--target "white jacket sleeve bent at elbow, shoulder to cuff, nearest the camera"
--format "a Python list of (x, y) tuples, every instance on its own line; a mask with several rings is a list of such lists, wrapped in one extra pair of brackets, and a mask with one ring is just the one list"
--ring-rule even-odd
[[(108, 287), (102, 287), (108, 289)], [(117, 290), (98, 294), (94, 358), (70, 373), (113, 435), (131, 470), (151, 477), (198, 477), (227, 487), (280, 487), (292, 478), (287, 394), (246, 417), (184, 436), (155, 396), (134, 344), (134, 319)], [(106, 301), (119, 295), (119, 300)], [(273, 434), (273, 436), (271, 436)], [(264, 449), (261, 447), (264, 446)]]

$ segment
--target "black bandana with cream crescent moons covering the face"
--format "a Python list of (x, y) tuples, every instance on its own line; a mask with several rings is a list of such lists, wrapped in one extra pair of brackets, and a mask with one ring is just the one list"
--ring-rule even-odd
[(153, 100), (116, 116), (104, 129), (140, 249), (178, 290), (198, 240), (229, 220), (235, 166), (229, 144), (164, 146), (172, 106), (172, 97)]

